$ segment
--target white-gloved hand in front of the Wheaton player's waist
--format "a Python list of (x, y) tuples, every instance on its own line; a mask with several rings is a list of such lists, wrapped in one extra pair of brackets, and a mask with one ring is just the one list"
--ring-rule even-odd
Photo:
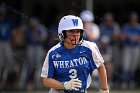
[(77, 79), (71, 79), (68, 82), (64, 82), (64, 89), (66, 90), (79, 90), (82, 87), (82, 81)]

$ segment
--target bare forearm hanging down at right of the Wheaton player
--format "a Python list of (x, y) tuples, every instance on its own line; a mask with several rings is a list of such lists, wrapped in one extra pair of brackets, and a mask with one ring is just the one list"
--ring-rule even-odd
[(107, 73), (104, 64), (101, 64), (98, 68), (98, 75), (101, 85), (101, 93), (109, 93), (108, 83), (107, 83)]

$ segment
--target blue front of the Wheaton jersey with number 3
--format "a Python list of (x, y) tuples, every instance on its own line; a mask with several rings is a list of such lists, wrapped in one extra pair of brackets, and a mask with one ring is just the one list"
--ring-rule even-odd
[[(48, 78), (54, 78), (60, 82), (78, 78), (82, 81), (80, 93), (84, 93), (87, 88), (87, 79), (92, 75), (96, 65), (92, 57), (92, 51), (82, 45), (77, 45), (74, 49), (66, 49), (61, 43), (59, 48), (49, 53)], [(83, 92), (82, 92), (83, 91)], [(66, 92), (73, 93), (73, 92)]]

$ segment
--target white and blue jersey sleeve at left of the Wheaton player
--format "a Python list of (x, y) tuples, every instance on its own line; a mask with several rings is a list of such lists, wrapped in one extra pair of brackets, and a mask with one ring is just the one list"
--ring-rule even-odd
[(47, 54), (41, 72), (41, 77), (53, 78), (54, 65), (50, 53)]

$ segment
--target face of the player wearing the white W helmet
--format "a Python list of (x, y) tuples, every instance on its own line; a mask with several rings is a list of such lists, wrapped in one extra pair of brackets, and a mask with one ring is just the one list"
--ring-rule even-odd
[(71, 45), (76, 45), (79, 42), (80, 39), (80, 30), (74, 29), (74, 30), (67, 30), (66, 31), (67, 38), (65, 41)]

